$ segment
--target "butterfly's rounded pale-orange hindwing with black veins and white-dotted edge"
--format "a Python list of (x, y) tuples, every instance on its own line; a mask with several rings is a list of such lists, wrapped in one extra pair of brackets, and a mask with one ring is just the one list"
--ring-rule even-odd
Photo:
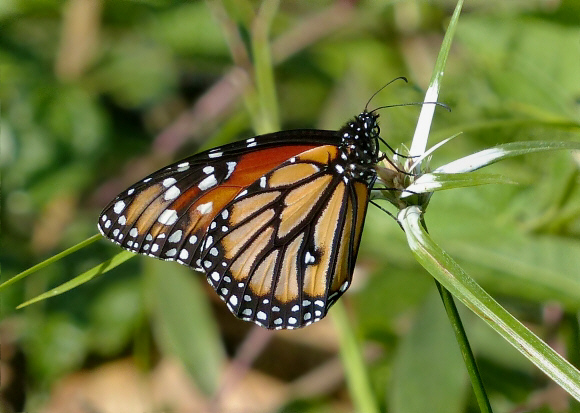
[(269, 329), (304, 327), (350, 286), (369, 189), (337, 174), (341, 160), (328, 148), (261, 177), (210, 225), (201, 265), (236, 317)]

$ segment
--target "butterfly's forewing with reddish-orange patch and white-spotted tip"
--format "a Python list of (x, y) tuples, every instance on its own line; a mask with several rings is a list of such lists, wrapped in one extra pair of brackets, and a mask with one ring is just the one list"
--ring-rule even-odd
[(270, 134), (160, 169), (109, 203), (101, 213), (99, 230), (130, 251), (190, 265), (197, 243), (187, 241), (203, 237), (215, 214), (258, 177), (316, 145), (300, 144), (301, 134), (296, 132), (286, 137), (292, 143), (286, 146), (273, 147), (280, 142), (277, 134)]

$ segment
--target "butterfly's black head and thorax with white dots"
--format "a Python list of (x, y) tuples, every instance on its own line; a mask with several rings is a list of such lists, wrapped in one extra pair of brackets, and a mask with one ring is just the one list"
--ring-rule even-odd
[(380, 160), (378, 115), (362, 112), (340, 129), (342, 159), (352, 179), (374, 182), (373, 165)]

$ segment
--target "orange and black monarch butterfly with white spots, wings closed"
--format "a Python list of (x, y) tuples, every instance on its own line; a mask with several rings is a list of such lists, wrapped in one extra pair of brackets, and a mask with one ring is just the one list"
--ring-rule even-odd
[(121, 247), (202, 271), (238, 318), (269, 329), (323, 318), (350, 286), (378, 115), (291, 130), (176, 162), (117, 196), (98, 227)]

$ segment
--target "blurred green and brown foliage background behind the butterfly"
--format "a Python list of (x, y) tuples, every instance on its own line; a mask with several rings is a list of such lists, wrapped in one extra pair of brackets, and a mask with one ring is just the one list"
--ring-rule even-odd
[[(100, 209), (157, 168), (255, 134), (247, 105), (258, 2), (0, 2), (2, 281), (96, 232)], [(454, 2), (282, 2), (272, 59), (283, 129), (338, 129), (423, 99)], [(246, 96), (246, 99), (244, 99)], [(438, 166), (498, 143), (580, 140), (580, 2), (467, 1), (431, 144)], [(409, 144), (419, 107), (380, 112)], [(437, 193), (432, 236), (502, 305), (580, 365), (580, 155), (489, 168), (519, 182)], [(101, 240), (2, 291), (3, 412), (351, 411), (330, 316), (268, 333), (231, 316), (204, 277), (138, 257), (15, 307), (111, 258)], [(431, 277), (369, 208), (343, 302), (381, 410), (476, 412)], [(578, 404), (465, 310), (496, 411)], [(465, 310), (465, 311), (463, 311)], [(232, 361), (233, 360), (233, 361)], [(217, 406), (217, 407), (216, 407)], [(157, 410), (156, 410), (157, 409)]]

